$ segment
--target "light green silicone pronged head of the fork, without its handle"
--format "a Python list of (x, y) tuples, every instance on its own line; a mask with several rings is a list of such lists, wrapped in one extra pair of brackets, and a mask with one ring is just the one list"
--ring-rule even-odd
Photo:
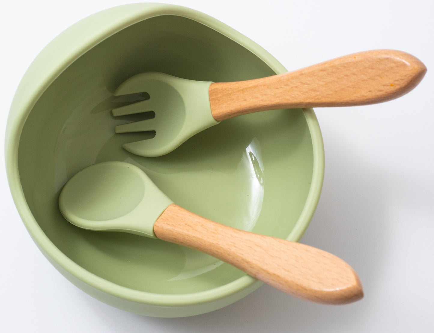
[(133, 121), (115, 127), (116, 133), (155, 131), (155, 137), (123, 144), (130, 153), (158, 157), (184, 141), (218, 124), (211, 114), (208, 88), (212, 82), (177, 78), (159, 72), (134, 75), (123, 82), (115, 96), (146, 92), (149, 99), (112, 110), (114, 116), (154, 111), (151, 119)]

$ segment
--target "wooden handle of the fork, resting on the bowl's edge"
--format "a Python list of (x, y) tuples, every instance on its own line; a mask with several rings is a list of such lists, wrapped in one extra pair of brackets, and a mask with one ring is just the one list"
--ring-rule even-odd
[(217, 121), (283, 109), (355, 106), (398, 98), (422, 80), (425, 65), (413, 55), (374, 50), (345, 55), (295, 72), (209, 88)]

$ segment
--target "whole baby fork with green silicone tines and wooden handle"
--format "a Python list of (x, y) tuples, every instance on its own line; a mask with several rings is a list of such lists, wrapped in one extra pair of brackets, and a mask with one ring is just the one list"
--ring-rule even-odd
[(115, 108), (112, 113), (123, 116), (154, 111), (155, 118), (118, 125), (115, 132), (155, 131), (151, 139), (122, 147), (140, 156), (161, 156), (194, 134), (242, 114), (389, 101), (418, 85), (425, 72), (424, 64), (408, 53), (375, 50), (240, 82), (201, 82), (142, 73), (122, 83), (115, 95), (147, 92), (150, 98)]

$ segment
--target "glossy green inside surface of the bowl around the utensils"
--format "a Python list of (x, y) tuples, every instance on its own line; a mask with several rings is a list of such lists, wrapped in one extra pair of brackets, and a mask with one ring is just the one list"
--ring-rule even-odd
[(133, 155), (121, 145), (153, 134), (115, 134), (115, 125), (146, 115), (113, 117), (112, 108), (131, 102), (113, 91), (148, 71), (214, 82), (275, 74), (248, 49), (191, 19), (157, 16), (129, 26), (73, 62), (34, 105), (20, 137), (21, 185), (43, 232), (91, 273), (151, 293), (210, 290), (245, 274), (158, 239), (80, 229), (59, 212), (62, 186), (93, 163), (126, 161), (192, 212), (287, 238), (312, 182), (309, 127), (300, 109), (260, 112), (211, 127), (168, 155)]

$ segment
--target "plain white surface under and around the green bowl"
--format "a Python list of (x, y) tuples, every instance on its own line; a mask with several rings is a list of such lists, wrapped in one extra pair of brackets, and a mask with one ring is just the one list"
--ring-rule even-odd
[[(39, 51), (83, 17), (129, 2), (2, 0), (2, 133), (14, 91)], [(322, 306), (263, 286), (226, 308), (190, 318), (141, 317), (112, 308), (69, 283), (36, 248), (13, 205), (3, 161), (0, 331), (434, 332), (434, 2), (166, 2), (232, 26), (288, 70), (386, 48), (425, 63), (424, 80), (398, 100), (316, 109), (325, 144), (325, 181), (302, 242), (348, 261), (362, 280), (365, 298)], [(0, 150), (3, 158), (3, 141)]]

